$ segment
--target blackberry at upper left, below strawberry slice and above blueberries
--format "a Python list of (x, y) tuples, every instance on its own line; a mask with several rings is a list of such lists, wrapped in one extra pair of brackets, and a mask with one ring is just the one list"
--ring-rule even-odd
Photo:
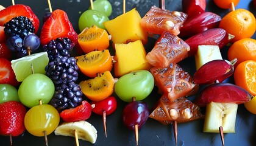
[(34, 25), (26, 16), (16, 16), (4, 24), (4, 33), (8, 37), (17, 35), (24, 39), (26, 35), (34, 32)]

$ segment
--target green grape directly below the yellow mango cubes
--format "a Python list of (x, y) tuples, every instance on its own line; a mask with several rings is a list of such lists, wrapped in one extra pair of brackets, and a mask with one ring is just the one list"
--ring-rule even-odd
[(115, 83), (116, 95), (124, 102), (143, 100), (151, 94), (154, 88), (154, 77), (146, 70), (134, 71), (125, 74)]

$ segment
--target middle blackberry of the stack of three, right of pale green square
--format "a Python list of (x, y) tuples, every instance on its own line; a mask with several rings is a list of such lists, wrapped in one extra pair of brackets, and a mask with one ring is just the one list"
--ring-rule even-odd
[(46, 75), (51, 78), (55, 85), (76, 82), (78, 69), (74, 57), (55, 58), (45, 67)]

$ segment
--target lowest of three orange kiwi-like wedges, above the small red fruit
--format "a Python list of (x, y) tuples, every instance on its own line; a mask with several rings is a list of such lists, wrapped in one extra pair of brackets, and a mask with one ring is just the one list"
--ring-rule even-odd
[(99, 74), (98, 77), (80, 82), (79, 85), (88, 99), (98, 102), (112, 95), (114, 83), (111, 72), (105, 71)]

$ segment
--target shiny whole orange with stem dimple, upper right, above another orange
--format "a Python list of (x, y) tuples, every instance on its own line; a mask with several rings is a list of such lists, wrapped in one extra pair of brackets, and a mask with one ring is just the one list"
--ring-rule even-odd
[(256, 28), (255, 16), (249, 10), (236, 9), (221, 19), (219, 27), (235, 36), (231, 42), (251, 38)]

